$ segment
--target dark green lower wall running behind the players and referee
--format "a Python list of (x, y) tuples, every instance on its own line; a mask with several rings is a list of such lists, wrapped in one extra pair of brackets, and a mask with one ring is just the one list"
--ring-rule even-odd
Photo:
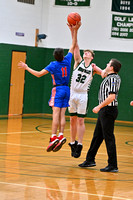
[[(12, 51), (25, 51), (27, 53), (27, 64), (35, 70), (43, 69), (54, 60), (53, 49), (0, 44), (0, 115), (8, 114)], [(67, 50), (65, 50), (66, 53)], [(133, 121), (133, 107), (129, 105), (130, 101), (133, 100), (133, 53), (95, 51), (93, 62), (104, 69), (111, 58), (116, 58), (122, 63), (122, 69), (119, 73), (122, 83), (118, 97), (119, 115), (117, 119)], [(100, 76), (94, 76), (90, 89), (90, 106), (87, 117), (97, 117), (92, 112), (92, 108), (98, 104), (98, 91), (101, 81)], [(48, 106), (51, 88), (52, 79), (50, 74), (37, 78), (26, 71), (23, 113), (52, 113), (51, 108)], [(66, 114), (68, 115), (68, 111)]]

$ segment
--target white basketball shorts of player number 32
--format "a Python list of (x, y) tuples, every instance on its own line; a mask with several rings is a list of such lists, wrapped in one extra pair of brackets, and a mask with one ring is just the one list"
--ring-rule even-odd
[(68, 111), (70, 115), (83, 115), (85, 117), (88, 111), (88, 94), (75, 93), (70, 94)]

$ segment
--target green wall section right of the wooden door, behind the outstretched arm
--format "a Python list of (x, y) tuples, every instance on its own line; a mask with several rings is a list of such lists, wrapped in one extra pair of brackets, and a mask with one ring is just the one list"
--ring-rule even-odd
[[(47, 62), (45, 58), (46, 49), (28, 47), (27, 64), (29, 67), (40, 71)], [(26, 71), (24, 90), (23, 113), (42, 113), (44, 98), (44, 77), (37, 78)]]

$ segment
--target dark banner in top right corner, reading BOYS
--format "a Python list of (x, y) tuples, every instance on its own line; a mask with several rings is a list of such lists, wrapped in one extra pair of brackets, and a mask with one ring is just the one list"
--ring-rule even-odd
[(112, 11), (133, 13), (133, 0), (112, 0)]

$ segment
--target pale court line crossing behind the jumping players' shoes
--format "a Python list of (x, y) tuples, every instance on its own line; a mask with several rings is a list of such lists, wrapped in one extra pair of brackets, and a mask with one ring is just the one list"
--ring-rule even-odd
[[(21, 147), (29, 147), (29, 148), (38, 148), (38, 149), (46, 149), (46, 147), (43, 146), (31, 146), (31, 145), (25, 145), (25, 144), (15, 144), (15, 143), (9, 143), (9, 142), (0, 142), (0, 144), (3, 145), (14, 145), (14, 146), (21, 146)], [(62, 149), (62, 151), (69, 151), (67, 149)], [(86, 153), (86, 151), (82, 151), (83, 153)], [(101, 155), (107, 155), (106, 153), (97, 153), (97, 154), (101, 154)], [(132, 158), (133, 156), (127, 156), (127, 155), (117, 155), (120, 157), (126, 157), (126, 158)]]

